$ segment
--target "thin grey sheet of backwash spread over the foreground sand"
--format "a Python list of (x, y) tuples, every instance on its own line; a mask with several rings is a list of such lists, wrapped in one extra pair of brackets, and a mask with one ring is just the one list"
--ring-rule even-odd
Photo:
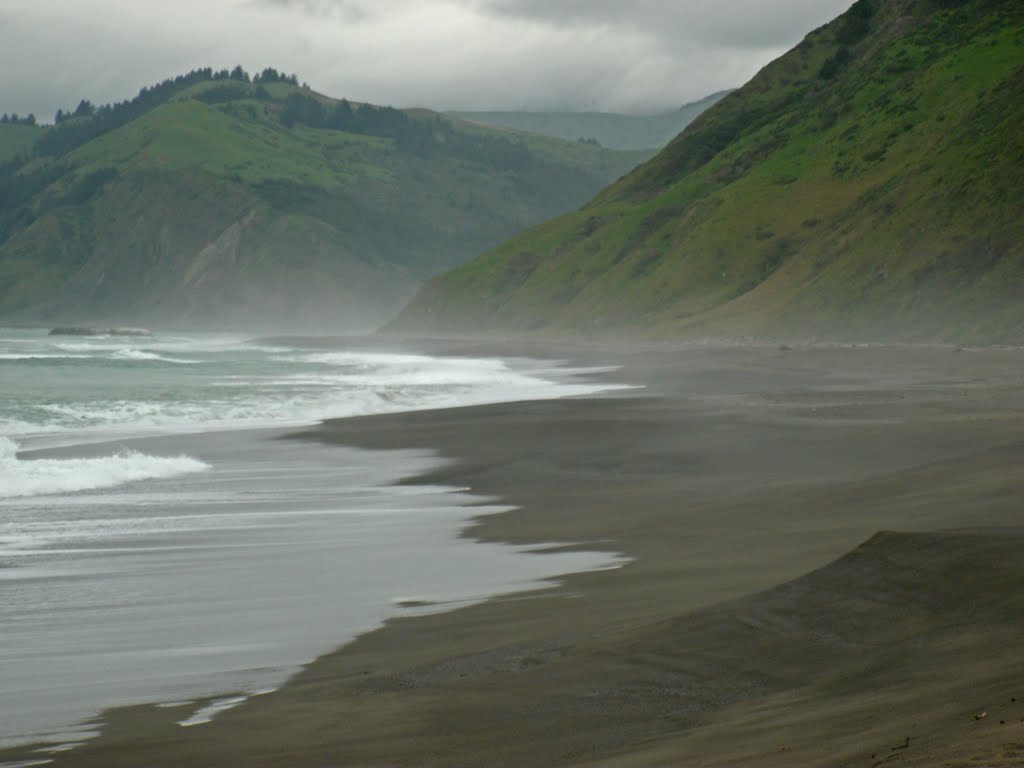
[[(40, 597), (62, 604), (65, 571), (75, 574), (76, 590), (105, 594), (122, 589), (138, 597), (120, 609), (85, 609), (85, 615), (75, 604), (59, 612), (42, 609), (40, 620), (28, 608), (12, 614), (17, 625), (0, 642), (0, 656), (11, 665), (2, 675), (6, 697), (0, 707), (0, 735), (5, 743), (0, 752), (32, 749), (38, 739), (84, 740), (66, 736), (93, 731), (86, 724), (112, 707), (146, 701), (163, 707), (211, 696), (241, 700), (257, 690), (281, 687), (315, 657), (391, 617), (473, 604), (523, 585), (539, 589), (566, 570), (616, 563), (615, 553), (607, 551), (565, 553), (542, 562), (513, 548), (469, 543), (460, 534), (479, 505), (489, 506), (488, 500), (455, 488), (399, 487), (402, 478), (440, 465), (427, 452), (280, 442), (287, 432), (264, 428), (163, 435), (36, 452), (36, 458), (108, 457), (125, 450), (201, 457), (206, 470), (150, 480), (147, 501), (137, 510), (130, 501), (118, 501), (117, 487), (91, 492), (91, 505), (85, 499), (82, 514), (100, 504), (104, 511), (99, 517), (112, 527), (123, 526), (122, 515), (129, 519), (125, 544), (117, 537), (101, 540), (87, 544), (87, 554), (69, 550), (70, 557), (53, 564), (44, 554), (41, 561), (22, 562), (8, 572), (6, 587), (17, 590), (22, 602), (24, 595), (44, 590), (47, 580), (56, 579), (52, 592)], [(339, 465), (344, 476), (334, 469)], [(261, 478), (247, 478), (246, 467), (260, 467)], [(187, 489), (177, 501), (170, 496), (176, 486)], [(242, 508), (218, 501), (224, 493), (243, 494)], [(10, 501), (15, 519), (18, 504), (28, 509), (34, 504), (31, 498)], [(158, 530), (147, 535), (146, 515), (153, 512)], [(198, 520), (206, 514), (213, 522), (203, 532)], [(317, 531), (316, 538), (304, 529)], [(352, 549), (356, 542), (358, 551)], [(134, 546), (140, 551), (132, 552)], [(104, 555), (105, 547), (112, 550)], [(204, 551), (209, 554), (202, 555)], [(338, 555), (343, 562), (332, 561)], [(244, 556), (258, 558), (259, 565), (239, 583), (234, 573)], [(138, 559), (142, 557), (144, 561)], [(458, 565), (458, 572), (431, 568), (435, 558)], [(209, 578), (178, 572), (182, 563), (194, 574)], [(150, 583), (150, 571), (162, 574), (160, 584)], [(300, 573), (306, 587), (297, 581)], [(345, 595), (337, 594), (338, 585), (344, 585)], [(295, 601), (316, 606), (317, 612), (287, 600), (288, 590)], [(211, 603), (218, 600), (230, 613), (211, 618)], [(134, 616), (131, 624), (126, 612)], [(300, 616), (300, 624), (310, 626), (293, 631), (291, 622)], [(52, 637), (53, 628), (62, 628), (62, 639)], [(155, 634), (154, 628), (164, 629)], [(175, 642), (168, 639), (171, 628), (180, 646), (168, 644)], [(39, 650), (33, 650), (37, 642)], [(114, 649), (125, 654), (123, 662), (113, 657)], [(92, 671), (97, 664), (105, 677)], [(173, 714), (180, 720), (196, 709), (201, 705)]]

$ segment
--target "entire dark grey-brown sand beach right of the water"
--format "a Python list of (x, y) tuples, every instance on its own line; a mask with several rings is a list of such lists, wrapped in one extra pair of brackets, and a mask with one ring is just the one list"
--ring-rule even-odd
[(391, 622), (209, 725), (112, 713), (56, 765), (1024, 765), (1024, 352), (437, 348), (648, 389), (302, 437), (435, 449), (412, 481), (519, 507), (468, 536), (635, 561)]

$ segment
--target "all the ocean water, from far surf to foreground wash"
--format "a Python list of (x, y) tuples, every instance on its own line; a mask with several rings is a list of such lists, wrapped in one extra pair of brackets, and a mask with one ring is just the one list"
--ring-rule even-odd
[(323, 418), (609, 388), (577, 373), (0, 329), (0, 745), (74, 743), (141, 702), (201, 726), (390, 615), (617, 567), (460, 538), (501, 508), (395, 484), (429, 453), (279, 439)]

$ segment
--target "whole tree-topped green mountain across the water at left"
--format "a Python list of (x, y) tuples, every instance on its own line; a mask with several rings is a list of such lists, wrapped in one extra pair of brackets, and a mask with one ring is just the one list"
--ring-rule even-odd
[(649, 157), (196, 70), (0, 124), (0, 314), (368, 329)]

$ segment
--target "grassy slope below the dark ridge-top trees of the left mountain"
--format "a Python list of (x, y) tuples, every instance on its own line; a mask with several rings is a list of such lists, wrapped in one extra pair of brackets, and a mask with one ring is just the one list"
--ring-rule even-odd
[[(281, 99), (299, 90), (287, 84), (267, 87), (274, 100), (194, 98), (217, 87), (193, 86), (26, 167), (58, 174), (32, 199), (32, 220), (0, 243), (0, 311), (173, 321), (253, 304), (265, 316), (259, 297), (273, 293), (290, 304), (284, 314), (318, 303), (365, 326), (426, 276), (579, 205), (644, 159), (531, 136), (519, 140), (530, 167), (496, 173), (480, 158), (286, 127)], [(482, 141), (510, 137), (450, 122)]]

